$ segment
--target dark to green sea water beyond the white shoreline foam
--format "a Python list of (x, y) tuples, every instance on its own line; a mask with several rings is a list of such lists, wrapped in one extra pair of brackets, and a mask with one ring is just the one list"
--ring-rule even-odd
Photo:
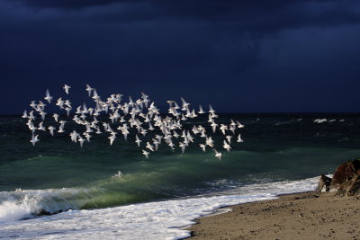
[[(112, 146), (106, 136), (96, 136), (81, 148), (68, 137), (78, 128), (71, 124), (64, 135), (40, 134), (32, 147), (26, 120), (1, 116), (0, 205), (40, 196), (47, 205), (34, 214), (43, 214), (215, 194), (333, 173), (338, 164), (360, 156), (360, 115), (220, 114), (217, 122), (229, 124), (230, 119), (245, 125), (239, 131), (244, 142), (233, 143), (229, 153), (222, 151), (219, 161), (213, 152), (202, 152), (199, 139), (184, 155), (178, 147), (172, 151), (163, 144), (148, 159), (133, 135), (128, 141), (117, 138)], [(186, 122), (184, 127), (205, 121)], [(220, 137), (214, 138), (217, 149)]]

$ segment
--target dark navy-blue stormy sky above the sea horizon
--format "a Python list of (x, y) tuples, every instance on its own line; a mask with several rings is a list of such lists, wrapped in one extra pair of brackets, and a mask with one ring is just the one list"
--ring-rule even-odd
[(0, 0), (1, 114), (183, 96), (220, 112), (358, 112), (360, 1)]

